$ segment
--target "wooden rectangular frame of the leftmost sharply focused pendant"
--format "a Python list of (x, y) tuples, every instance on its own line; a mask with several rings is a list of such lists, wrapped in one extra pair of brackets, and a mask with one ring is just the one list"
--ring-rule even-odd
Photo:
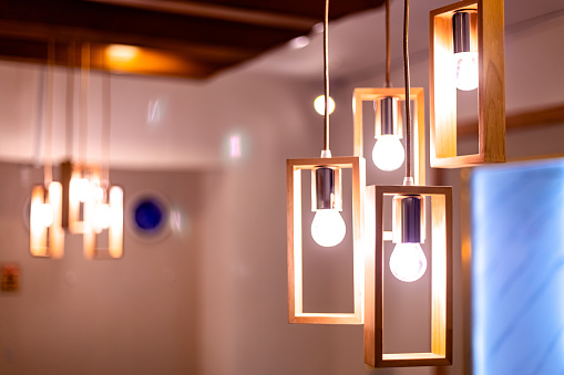
[[(304, 313), (301, 246), (301, 170), (316, 167), (352, 169), (352, 257), (355, 311)], [(366, 163), (360, 156), (286, 160), (288, 240), (288, 321), (314, 324), (362, 324), (365, 290), (365, 186)]]

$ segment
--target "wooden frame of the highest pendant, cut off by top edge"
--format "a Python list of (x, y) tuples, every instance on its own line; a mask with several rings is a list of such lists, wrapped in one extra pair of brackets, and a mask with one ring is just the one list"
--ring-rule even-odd
[[(457, 154), (457, 87), (451, 76), (452, 14), (478, 10), (479, 153)], [(430, 13), (431, 167), (460, 168), (505, 162), (505, 79), (503, 0), (469, 0)], [(448, 74), (445, 72), (452, 72)]]

